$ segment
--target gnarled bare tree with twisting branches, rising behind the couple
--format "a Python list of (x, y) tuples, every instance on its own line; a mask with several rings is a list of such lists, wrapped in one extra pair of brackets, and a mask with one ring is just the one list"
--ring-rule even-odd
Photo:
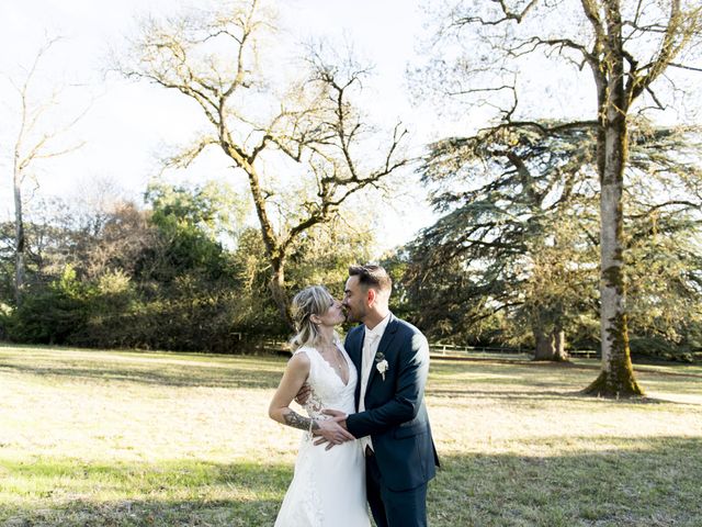
[(290, 321), (285, 265), (294, 243), (329, 222), (350, 195), (377, 187), (407, 161), (399, 156), (405, 135), (399, 124), (387, 146), (374, 144), (375, 167), (359, 159), (370, 137), (353, 98), (366, 70), (353, 61), (332, 65), (319, 52), (307, 53), (307, 75), (276, 90), (280, 64), (261, 65), (272, 31), (258, 0), (219, 12), (150, 19), (133, 42), (134, 58), (118, 60), (117, 68), (199, 105), (207, 131), (170, 164), (188, 167), (217, 146), (246, 177), (271, 266), (270, 291)]

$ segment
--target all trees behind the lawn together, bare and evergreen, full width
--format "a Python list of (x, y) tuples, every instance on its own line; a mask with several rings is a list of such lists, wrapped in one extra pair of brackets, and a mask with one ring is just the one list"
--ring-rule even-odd
[[(700, 130), (645, 114), (676, 93), (666, 71), (702, 70), (702, 8), (455, 1), (431, 15), (438, 29), (415, 90), (495, 115), (419, 159), (399, 121), (367, 115), (367, 66), (322, 44), (281, 65), (275, 19), (258, 0), (143, 22), (112, 69), (178, 94), (202, 121), (165, 169), (190, 170), (208, 152), (240, 194), (206, 180), (158, 183), (144, 205), (56, 201), (23, 214), (30, 167), (73, 149), (42, 149), (54, 135), (34, 127), (44, 106), (32, 111), (29, 69), (22, 122), (39, 139), (20, 128), (15, 218), (2, 228), (4, 335), (212, 350), (236, 347), (239, 333), (284, 335), (290, 292), (338, 288), (349, 264), (371, 257), (359, 202), (378, 190), (392, 199), (411, 166), (441, 217), (384, 257), (398, 313), (434, 339), (533, 346), (542, 359), (599, 347), (592, 392), (641, 393), (631, 347), (701, 345)], [(574, 79), (590, 71), (590, 119), (546, 119), (543, 93), (521, 103), (522, 78), (543, 61)], [(567, 98), (567, 87), (552, 93)]]

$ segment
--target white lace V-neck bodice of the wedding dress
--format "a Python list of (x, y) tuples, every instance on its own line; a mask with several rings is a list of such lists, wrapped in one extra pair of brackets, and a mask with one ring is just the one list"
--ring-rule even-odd
[(337, 343), (337, 347), (349, 367), (349, 382), (347, 384), (315, 348), (305, 346), (295, 351), (295, 354), (305, 354), (309, 358), (307, 383), (312, 388), (312, 395), (305, 404), (305, 410), (307, 415), (314, 419), (329, 418), (328, 415), (321, 413), (325, 408), (340, 410), (347, 414), (355, 412), (353, 395), (358, 382), (356, 370), (343, 346)]

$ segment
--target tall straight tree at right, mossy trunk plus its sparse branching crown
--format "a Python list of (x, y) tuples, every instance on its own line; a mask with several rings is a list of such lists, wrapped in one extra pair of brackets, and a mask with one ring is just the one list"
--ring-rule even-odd
[[(665, 90), (665, 82), (675, 89), (675, 79), (668, 71), (702, 71), (695, 63), (702, 41), (702, 7), (683, 0), (461, 2), (454, 5), (444, 30), (444, 37), (458, 35), (477, 43), (457, 67), (469, 82), (446, 86), (454, 94), (471, 96), (474, 101), (507, 102), (500, 106), (505, 122), (519, 114), (519, 79), (524, 71), (533, 72), (545, 64), (539, 63), (540, 57), (563, 59), (578, 70), (587, 67), (591, 71), (597, 96), (596, 157), (600, 179), (602, 369), (586, 391), (612, 396), (642, 394), (631, 362), (622, 269), (629, 121), (637, 99), (648, 106), (665, 109), (656, 89)], [(540, 75), (544, 77), (543, 71)], [(562, 96), (564, 102), (570, 96), (568, 86), (552, 82), (550, 89), (552, 97)], [(540, 106), (547, 99), (542, 93)]]

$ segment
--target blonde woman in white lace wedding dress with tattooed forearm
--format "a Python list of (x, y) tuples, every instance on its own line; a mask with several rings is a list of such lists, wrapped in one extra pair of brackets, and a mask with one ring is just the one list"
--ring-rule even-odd
[[(358, 440), (325, 408), (355, 412), (355, 367), (339, 341), (335, 326), (344, 321), (341, 303), (321, 285), (304, 289), (293, 299), (297, 335), (294, 355), (269, 407), (272, 419), (299, 428), (303, 435), (293, 482), (275, 527), (365, 527), (365, 462)], [(290, 408), (304, 383), (312, 389), (307, 417)], [(315, 435), (327, 439), (317, 446)]]

